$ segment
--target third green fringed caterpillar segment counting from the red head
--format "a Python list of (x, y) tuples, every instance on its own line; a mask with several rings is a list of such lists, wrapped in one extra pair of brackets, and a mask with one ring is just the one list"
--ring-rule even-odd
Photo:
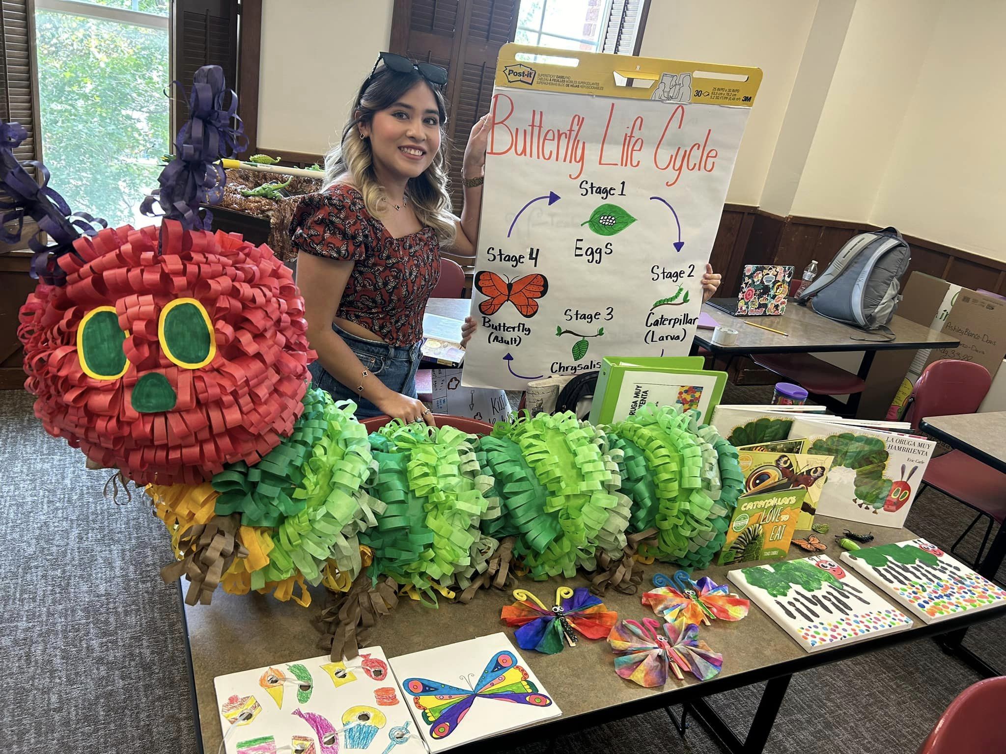
[[(514, 549), (534, 579), (595, 567), (601, 542), (624, 546), (628, 500), (604, 432), (574, 414), (498, 423), (480, 441), (502, 505), (520, 532)], [(604, 531), (604, 534), (602, 532)]]

